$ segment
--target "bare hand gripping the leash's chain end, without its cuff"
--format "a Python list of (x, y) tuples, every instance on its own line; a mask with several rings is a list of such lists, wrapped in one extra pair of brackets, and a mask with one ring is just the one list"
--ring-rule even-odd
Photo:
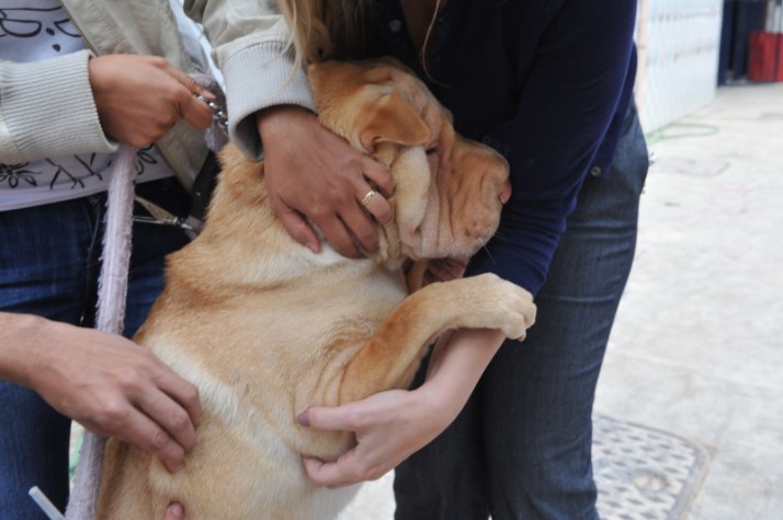
[(107, 55), (90, 59), (90, 85), (106, 136), (134, 147), (150, 145), (180, 119), (207, 129), (214, 94), (157, 56)]

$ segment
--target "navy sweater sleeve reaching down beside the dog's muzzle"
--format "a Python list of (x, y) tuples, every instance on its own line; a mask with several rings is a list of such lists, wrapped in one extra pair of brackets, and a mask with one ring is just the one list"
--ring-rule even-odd
[(502, 135), (513, 143), (511, 200), (501, 232), (469, 274), (491, 270), (536, 294), (566, 220), (594, 165), (622, 93), (633, 82), (635, 2), (564, 2), (522, 70), (518, 115)]

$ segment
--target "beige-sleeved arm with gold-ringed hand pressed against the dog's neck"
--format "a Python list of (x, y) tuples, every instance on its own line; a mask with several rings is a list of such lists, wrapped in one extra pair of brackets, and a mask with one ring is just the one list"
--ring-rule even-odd
[[(356, 242), (374, 251), (373, 218), (390, 217), (385, 198), (393, 192), (390, 174), (318, 123), (283, 16), (264, 2), (245, 0), (184, 7), (203, 23), (224, 74), (229, 135), (247, 157), (264, 159), (270, 203), (288, 233), (319, 251), (315, 224), (345, 256), (359, 254)], [(370, 189), (378, 196), (363, 207)]]

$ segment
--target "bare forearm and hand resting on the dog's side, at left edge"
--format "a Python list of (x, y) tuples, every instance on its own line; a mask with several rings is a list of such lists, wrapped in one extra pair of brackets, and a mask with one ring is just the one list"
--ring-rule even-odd
[(37, 392), (90, 431), (117, 437), (174, 471), (195, 443), (197, 389), (122, 336), (0, 313), (0, 379)]

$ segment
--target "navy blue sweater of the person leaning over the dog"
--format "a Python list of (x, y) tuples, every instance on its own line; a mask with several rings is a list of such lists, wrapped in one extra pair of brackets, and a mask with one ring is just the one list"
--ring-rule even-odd
[(636, 72), (636, 1), (449, 0), (428, 74), (398, 0), (374, 5), (371, 54), (419, 71), (457, 131), (511, 165), (500, 231), (468, 274), (493, 271), (535, 294), (588, 172), (609, 172)]

